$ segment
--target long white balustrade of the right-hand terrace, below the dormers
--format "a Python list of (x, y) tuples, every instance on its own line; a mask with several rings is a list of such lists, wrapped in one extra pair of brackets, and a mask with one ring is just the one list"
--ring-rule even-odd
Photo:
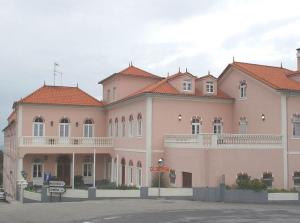
[(282, 148), (282, 136), (271, 134), (166, 135), (167, 148)]

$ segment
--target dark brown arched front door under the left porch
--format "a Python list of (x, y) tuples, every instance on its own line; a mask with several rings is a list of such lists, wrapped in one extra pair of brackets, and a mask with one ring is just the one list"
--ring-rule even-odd
[(71, 161), (68, 156), (61, 156), (57, 159), (57, 179), (70, 185)]

